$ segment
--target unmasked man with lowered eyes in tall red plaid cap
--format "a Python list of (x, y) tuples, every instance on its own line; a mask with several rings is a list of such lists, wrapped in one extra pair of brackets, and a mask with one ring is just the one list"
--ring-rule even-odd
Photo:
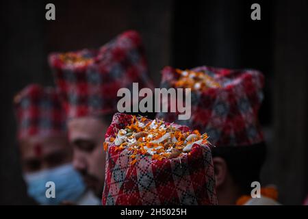
[(117, 92), (153, 88), (147, 78), (142, 41), (136, 31), (120, 34), (98, 50), (84, 49), (49, 56), (55, 83), (68, 116), (73, 165), (98, 198), (105, 178), (104, 135), (117, 112)]

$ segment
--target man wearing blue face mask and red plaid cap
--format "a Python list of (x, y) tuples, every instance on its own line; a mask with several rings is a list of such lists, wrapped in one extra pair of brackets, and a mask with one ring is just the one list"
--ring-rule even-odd
[[(14, 109), (29, 196), (40, 205), (58, 205), (64, 201), (92, 203), (84, 181), (71, 164), (66, 118), (55, 89), (29, 85), (15, 96)], [(47, 196), (47, 189), (53, 185), (55, 197)]]

